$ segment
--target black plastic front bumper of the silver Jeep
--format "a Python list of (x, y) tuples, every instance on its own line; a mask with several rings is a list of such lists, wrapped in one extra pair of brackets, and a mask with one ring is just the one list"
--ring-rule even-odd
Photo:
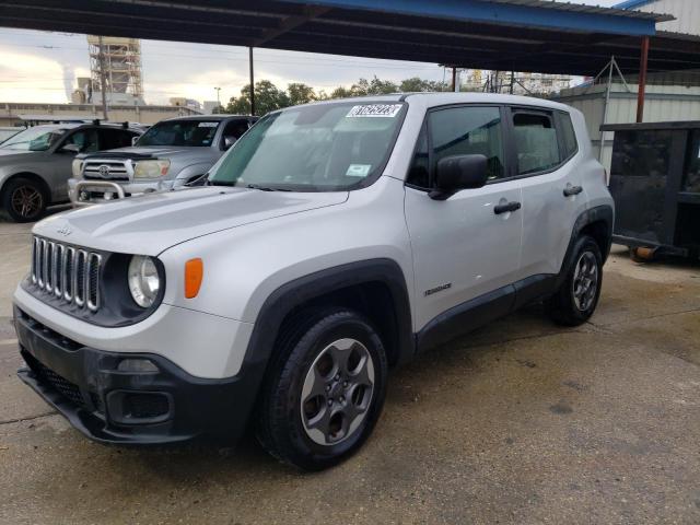
[[(153, 353), (82, 346), (15, 306), (18, 375), (78, 430), (103, 443), (165, 444), (214, 438), (235, 442), (245, 430), (262, 370), (230, 378), (195, 377)], [(148, 359), (156, 372), (124, 372), (126, 359)]]

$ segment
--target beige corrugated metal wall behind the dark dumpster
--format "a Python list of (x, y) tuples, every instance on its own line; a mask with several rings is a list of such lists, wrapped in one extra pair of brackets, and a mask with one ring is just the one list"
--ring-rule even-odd
[[(698, 0), (700, 4), (700, 0)], [(600, 124), (605, 102), (605, 84), (573, 88), (555, 98), (581, 110), (586, 117), (594, 150), (600, 144)], [(630, 84), (631, 93), (621, 83), (614, 83), (610, 91), (607, 124), (628, 124), (637, 119), (637, 84)], [(648, 85), (644, 103), (644, 121), (700, 120), (700, 86)], [(612, 133), (606, 133), (604, 165), (609, 168), (612, 154)]]

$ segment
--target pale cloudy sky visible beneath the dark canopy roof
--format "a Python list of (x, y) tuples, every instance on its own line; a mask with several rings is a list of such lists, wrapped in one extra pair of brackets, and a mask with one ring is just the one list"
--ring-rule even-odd
[[(619, 0), (578, 0), (572, 3), (614, 5)], [(144, 98), (167, 104), (173, 96), (199, 102), (237, 96), (248, 82), (245, 47), (141, 40)], [(349, 86), (374, 75), (400, 81), (410, 77), (450, 80), (434, 63), (376, 60), (275, 49), (255, 50), (256, 80), (268, 79), (284, 89), (303, 82), (316, 90)], [(75, 78), (90, 75), (85, 35), (0, 28), (0, 103), (66, 103)]]

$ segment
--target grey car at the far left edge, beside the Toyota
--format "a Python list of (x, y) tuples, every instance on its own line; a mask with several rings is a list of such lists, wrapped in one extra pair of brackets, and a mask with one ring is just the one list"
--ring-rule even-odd
[(26, 128), (0, 144), (0, 211), (16, 222), (39, 219), (68, 200), (78, 153), (121, 148), (141, 132), (128, 125), (48, 124)]

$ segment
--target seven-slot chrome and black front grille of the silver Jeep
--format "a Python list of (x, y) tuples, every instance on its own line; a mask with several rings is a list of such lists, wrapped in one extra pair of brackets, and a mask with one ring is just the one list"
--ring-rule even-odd
[(101, 267), (100, 254), (34, 237), (32, 284), (63, 303), (96, 312), (100, 308)]

